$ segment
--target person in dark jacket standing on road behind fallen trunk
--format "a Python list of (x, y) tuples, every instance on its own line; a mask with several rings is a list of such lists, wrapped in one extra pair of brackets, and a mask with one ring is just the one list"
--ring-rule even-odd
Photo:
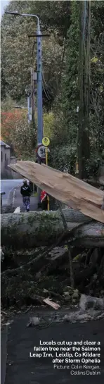
[(22, 194), (22, 202), (25, 210), (27, 212), (30, 211), (30, 196), (31, 196), (31, 189), (30, 185), (27, 184), (27, 180), (23, 182), (22, 187), (20, 188), (20, 193)]

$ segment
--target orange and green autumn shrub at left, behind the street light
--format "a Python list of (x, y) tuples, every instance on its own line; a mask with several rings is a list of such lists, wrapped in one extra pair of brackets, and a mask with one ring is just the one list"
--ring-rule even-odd
[(12, 145), (18, 159), (35, 159), (36, 132), (27, 122), (27, 111), (1, 112), (1, 138)]

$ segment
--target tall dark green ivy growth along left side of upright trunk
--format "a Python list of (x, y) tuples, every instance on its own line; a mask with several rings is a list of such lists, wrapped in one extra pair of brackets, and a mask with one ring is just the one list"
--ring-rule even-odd
[(72, 1), (70, 22), (65, 50), (65, 70), (62, 73), (54, 110), (55, 143), (62, 145), (69, 142), (73, 146), (77, 145), (78, 125), (79, 1)]

